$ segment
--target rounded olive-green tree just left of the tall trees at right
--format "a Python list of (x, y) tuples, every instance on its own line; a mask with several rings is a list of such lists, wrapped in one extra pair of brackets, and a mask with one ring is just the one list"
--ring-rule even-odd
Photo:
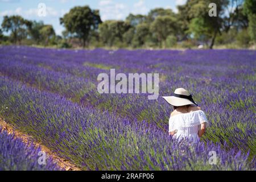
[(171, 16), (158, 16), (151, 24), (150, 31), (155, 34), (158, 42), (162, 44), (168, 35), (176, 33), (176, 19)]

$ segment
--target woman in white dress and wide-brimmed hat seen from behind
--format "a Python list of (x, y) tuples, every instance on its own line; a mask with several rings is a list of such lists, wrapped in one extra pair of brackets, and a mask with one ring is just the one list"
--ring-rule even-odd
[(206, 129), (207, 118), (192, 95), (183, 88), (178, 88), (174, 96), (163, 97), (174, 106), (174, 111), (169, 119), (169, 135), (181, 140), (187, 138), (196, 142), (203, 136)]

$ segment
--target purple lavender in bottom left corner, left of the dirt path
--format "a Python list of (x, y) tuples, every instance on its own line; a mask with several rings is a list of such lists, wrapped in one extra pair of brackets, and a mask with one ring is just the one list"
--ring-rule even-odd
[(47, 158), (46, 164), (39, 164), (40, 148), (34, 144), (23, 143), (21, 139), (14, 138), (13, 134), (0, 127), (0, 171), (41, 171), (61, 170), (51, 158)]

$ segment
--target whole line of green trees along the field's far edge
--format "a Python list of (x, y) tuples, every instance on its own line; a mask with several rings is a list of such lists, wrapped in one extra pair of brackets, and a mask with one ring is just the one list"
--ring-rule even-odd
[[(216, 4), (217, 16), (209, 16), (210, 3)], [(55, 34), (51, 24), (4, 16), (0, 41), (62, 48), (190, 48), (199, 44), (213, 48), (215, 44), (249, 47), (256, 43), (255, 0), (188, 0), (177, 10), (156, 8), (147, 15), (129, 14), (125, 20), (102, 22), (99, 10), (76, 6), (60, 18), (65, 27), (62, 36)]]

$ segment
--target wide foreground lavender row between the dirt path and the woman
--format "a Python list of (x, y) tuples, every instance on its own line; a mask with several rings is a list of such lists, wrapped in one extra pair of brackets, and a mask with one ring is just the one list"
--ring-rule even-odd
[[(0, 90), (0, 104), (9, 108), (2, 117), (83, 169), (255, 168), (249, 154), (211, 142), (177, 143), (155, 125), (134, 124), (5, 77), (0, 77)], [(209, 164), (210, 151), (216, 151), (217, 165)]]

